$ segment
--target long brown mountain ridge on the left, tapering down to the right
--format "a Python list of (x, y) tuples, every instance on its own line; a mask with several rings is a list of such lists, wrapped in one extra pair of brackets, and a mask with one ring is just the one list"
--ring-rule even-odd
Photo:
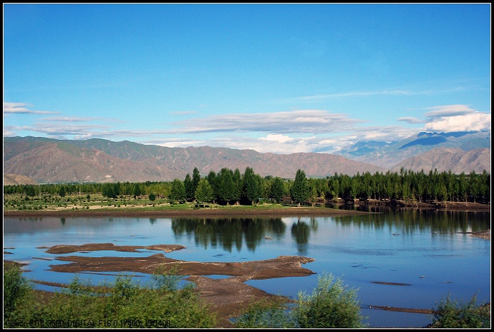
[(383, 172), (384, 169), (324, 153), (276, 155), (229, 148), (166, 148), (129, 141), (87, 141), (35, 137), (4, 138), (4, 172), (23, 174), (37, 182), (145, 182), (184, 179), (198, 167), (201, 174), (246, 167), (261, 176), (308, 177), (335, 172)]

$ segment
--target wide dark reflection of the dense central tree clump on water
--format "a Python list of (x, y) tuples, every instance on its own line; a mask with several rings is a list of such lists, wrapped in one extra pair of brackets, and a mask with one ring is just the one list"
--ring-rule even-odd
[(287, 228), (281, 218), (176, 218), (171, 220), (174, 235), (193, 235), (195, 244), (204, 247), (221, 247), (231, 252), (241, 251), (245, 241), (250, 251), (263, 239), (282, 237)]

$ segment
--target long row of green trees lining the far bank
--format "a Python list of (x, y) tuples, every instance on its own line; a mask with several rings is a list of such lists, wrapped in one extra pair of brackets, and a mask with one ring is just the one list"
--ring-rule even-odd
[(326, 178), (308, 178), (298, 170), (295, 179), (261, 177), (251, 167), (243, 174), (236, 170), (222, 168), (210, 171), (205, 177), (197, 167), (192, 175), (173, 182), (116, 182), (88, 184), (42, 184), (4, 186), (4, 194), (20, 193), (26, 196), (51, 194), (102, 194), (107, 198), (126, 196), (169, 198), (177, 203), (198, 201), (198, 203), (251, 205), (260, 200), (280, 202), (291, 199), (295, 203), (314, 204), (321, 198), (391, 199), (404, 201), (474, 201), (490, 202), (490, 173), (470, 172), (453, 174), (437, 170), (413, 172), (357, 173), (353, 177), (335, 173)]

